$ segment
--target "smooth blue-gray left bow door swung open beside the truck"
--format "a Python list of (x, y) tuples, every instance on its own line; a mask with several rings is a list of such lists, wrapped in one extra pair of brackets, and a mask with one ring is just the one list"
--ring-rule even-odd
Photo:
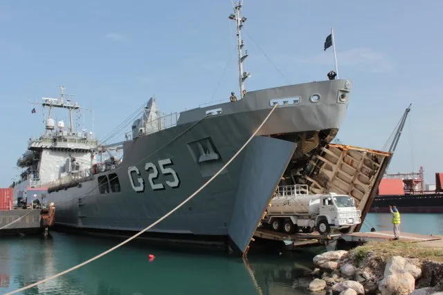
[(248, 248), (296, 144), (254, 137), (246, 149), (233, 217), (228, 229), (230, 251), (242, 256)]

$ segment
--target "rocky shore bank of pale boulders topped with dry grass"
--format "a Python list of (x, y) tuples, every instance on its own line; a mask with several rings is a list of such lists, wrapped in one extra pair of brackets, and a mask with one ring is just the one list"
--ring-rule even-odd
[[(391, 245), (383, 248), (384, 244)], [(417, 246), (408, 249), (401, 244), (395, 249), (391, 242), (384, 244), (315, 256), (311, 293), (443, 295), (443, 249), (416, 251)]]

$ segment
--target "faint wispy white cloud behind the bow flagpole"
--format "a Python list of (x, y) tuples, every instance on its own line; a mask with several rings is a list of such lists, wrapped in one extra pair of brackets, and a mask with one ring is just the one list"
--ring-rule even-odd
[[(331, 50), (331, 49), (329, 49)], [(290, 61), (304, 64), (331, 64), (331, 53), (318, 53), (308, 57), (287, 57)], [(373, 73), (388, 73), (394, 69), (394, 64), (384, 53), (379, 53), (370, 48), (352, 48), (337, 53), (338, 66), (354, 66)]]

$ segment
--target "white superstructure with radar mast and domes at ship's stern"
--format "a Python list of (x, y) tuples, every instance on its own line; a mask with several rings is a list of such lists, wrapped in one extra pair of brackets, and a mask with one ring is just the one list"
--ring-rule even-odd
[[(28, 198), (28, 191), (40, 191), (44, 198), (44, 191), (52, 182), (66, 182), (90, 175), (97, 140), (92, 131), (76, 131), (73, 126), (73, 112), (86, 108), (73, 103), (71, 95), (65, 95), (65, 88), (59, 87), (60, 97), (42, 97), (43, 102), (33, 102), (47, 108), (48, 116), (45, 118), (44, 133), (36, 139), (30, 138), (28, 149), (17, 160), (17, 166), (24, 170), (17, 183), (14, 183), (15, 194), (19, 198)], [(67, 128), (63, 120), (56, 124), (53, 114), (55, 109), (69, 112)], [(30, 198), (28, 202), (32, 200)]]

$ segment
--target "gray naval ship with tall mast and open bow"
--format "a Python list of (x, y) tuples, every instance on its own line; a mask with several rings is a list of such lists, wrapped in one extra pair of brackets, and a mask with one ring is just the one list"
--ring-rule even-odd
[[(66, 100), (62, 88), (59, 98), (38, 103), (49, 109), (45, 132), (30, 139), (17, 162), (26, 169), (14, 184), (17, 198), (38, 193), (44, 202), (54, 202), (60, 229), (132, 236), (215, 175), (277, 104), (246, 149), (208, 187), (140, 237), (219, 245), (244, 255), (280, 181), (295, 182), (316, 149), (334, 139), (351, 83), (329, 78), (246, 92), (250, 73), (243, 65), (248, 55), (241, 10), (239, 2), (229, 16), (237, 25), (238, 98), (169, 115), (162, 115), (151, 98), (123, 142), (104, 144), (91, 132), (73, 130), (73, 111), (83, 109)], [(64, 122), (55, 126), (51, 115), (60, 108), (69, 111), (67, 130)], [(123, 158), (103, 160), (116, 149)]]

